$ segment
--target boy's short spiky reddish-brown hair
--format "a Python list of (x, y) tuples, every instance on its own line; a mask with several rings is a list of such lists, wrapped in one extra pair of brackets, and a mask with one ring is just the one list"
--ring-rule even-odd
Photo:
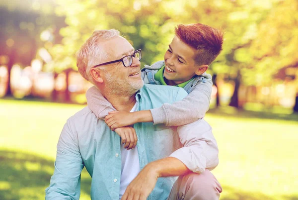
[(196, 65), (210, 65), (223, 50), (223, 31), (205, 24), (178, 24), (175, 27), (175, 35), (196, 49)]

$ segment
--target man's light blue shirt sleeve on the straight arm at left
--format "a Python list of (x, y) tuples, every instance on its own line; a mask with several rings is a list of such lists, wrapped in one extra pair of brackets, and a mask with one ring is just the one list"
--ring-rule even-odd
[(78, 200), (83, 161), (79, 153), (77, 135), (71, 121), (65, 124), (57, 145), (54, 175), (46, 189), (46, 200)]

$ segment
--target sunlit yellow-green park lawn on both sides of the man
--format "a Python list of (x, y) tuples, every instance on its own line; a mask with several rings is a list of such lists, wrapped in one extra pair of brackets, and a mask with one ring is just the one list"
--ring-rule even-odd
[[(83, 105), (0, 100), (0, 200), (40, 200), (67, 118)], [(298, 200), (298, 115), (210, 110), (220, 149), (221, 200)], [(82, 174), (81, 199), (90, 199)]]

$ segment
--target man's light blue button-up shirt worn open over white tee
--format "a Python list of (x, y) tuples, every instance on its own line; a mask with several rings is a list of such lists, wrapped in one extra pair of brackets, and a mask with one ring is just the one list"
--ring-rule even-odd
[[(182, 100), (186, 96), (185, 90), (179, 87), (145, 84), (136, 94), (136, 100), (138, 110), (148, 110), (160, 107), (164, 102)], [(185, 129), (180, 131), (181, 134), (179, 128), (163, 124), (135, 124), (140, 170), (149, 162), (169, 156), (178, 158), (196, 173), (216, 167), (218, 148), (211, 127), (206, 123), (198, 120), (196, 127), (179, 127)], [(198, 130), (202, 130), (201, 135), (197, 133)], [(209, 138), (206, 139), (206, 136)], [(78, 200), (83, 167), (92, 177), (92, 200), (119, 199), (120, 136), (111, 131), (87, 106), (70, 117), (62, 130), (54, 175), (46, 189), (46, 200)], [(148, 200), (166, 200), (175, 180), (176, 177), (158, 178)]]

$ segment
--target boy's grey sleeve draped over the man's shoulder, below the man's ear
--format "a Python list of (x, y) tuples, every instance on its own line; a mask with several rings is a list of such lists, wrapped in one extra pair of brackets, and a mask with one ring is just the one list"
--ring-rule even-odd
[(116, 110), (95, 86), (92, 86), (87, 90), (86, 99), (88, 107), (99, 119), (104, 120), (105, 116), (108, 115), (109, 112)]

